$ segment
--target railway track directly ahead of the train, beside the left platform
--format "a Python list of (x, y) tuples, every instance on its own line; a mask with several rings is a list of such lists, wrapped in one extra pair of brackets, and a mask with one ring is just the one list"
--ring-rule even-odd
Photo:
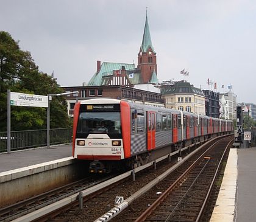
[(66, 186), (59, 187), (49, 192), (42, 193), (40, 195), (33, 196), (29, 199), (24, 199), (18, 203), (6, 206), (0, 209), (0, 221), (11, 221), (19, 218), (27, 213), (38, 210), (41, 207), (48, 206), (49, 204), (60, 201), (60, 199), (66, 198), (66, 196), (73, 195), (88, 187), (95, 186), (113, 176), (88, 176), (87, 178), (80, 179), (79, 181), (72, 182)]

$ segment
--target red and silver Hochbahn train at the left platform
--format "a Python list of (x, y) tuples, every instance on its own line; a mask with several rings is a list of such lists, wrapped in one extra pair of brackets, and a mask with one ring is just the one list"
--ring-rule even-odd
[(232, 131), (231, 120), (125, 100), (90, 99), (74, 107), (73, 156), (87, 160), (90, 172), (110, 172)]

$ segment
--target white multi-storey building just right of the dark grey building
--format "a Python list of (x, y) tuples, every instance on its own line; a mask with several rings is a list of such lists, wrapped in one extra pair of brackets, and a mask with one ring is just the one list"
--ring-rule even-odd
[(220, 117), (223, 119), (236, 119), (236, 95), (230, 90), (219, 94)]

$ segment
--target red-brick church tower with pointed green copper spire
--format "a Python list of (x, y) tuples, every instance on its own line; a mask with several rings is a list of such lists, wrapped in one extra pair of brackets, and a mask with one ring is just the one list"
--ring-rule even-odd
[(138, 69), (140, 69), (143, 83), (156, 83), (157, 56), (151, 42), (147, 13), (143, 40), (140, 47), (140, 52), (138, 53)]

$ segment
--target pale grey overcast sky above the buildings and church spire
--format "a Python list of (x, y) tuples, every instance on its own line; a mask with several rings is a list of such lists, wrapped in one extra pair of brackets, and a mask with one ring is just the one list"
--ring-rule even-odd
[[(256, 1), (0, 0), (0, 30), (60, 86), (82, 86), (96, 61), (135, 63), (146, 7), (159, 82), (187, 80), (256, 104)], [(188, 77), (180, 71), (190, 72)], [(224, 88), (221, 86), (224, 85)], [(210, 86), (210, 89), (211, 86)]]

